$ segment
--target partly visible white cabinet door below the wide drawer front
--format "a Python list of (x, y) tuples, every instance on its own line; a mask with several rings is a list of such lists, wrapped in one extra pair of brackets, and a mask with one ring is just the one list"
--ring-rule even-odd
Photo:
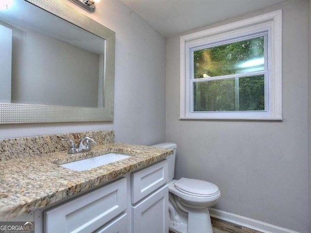
[(103, 228), (94, 233), (128, 233), (127, 231), (127, 214), (123, 214), (109, 222)]

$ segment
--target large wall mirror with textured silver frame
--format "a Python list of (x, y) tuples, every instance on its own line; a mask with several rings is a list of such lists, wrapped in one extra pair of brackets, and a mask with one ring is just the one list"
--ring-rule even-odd
[(0, 10), (0, 123), (113, 120), (115, 33), (60, 0), (11, 1)]

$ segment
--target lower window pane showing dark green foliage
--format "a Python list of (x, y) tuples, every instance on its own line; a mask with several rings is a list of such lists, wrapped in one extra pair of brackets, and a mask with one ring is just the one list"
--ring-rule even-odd
[(264, 110), (264, 75), (193, 83), (193, 111)]

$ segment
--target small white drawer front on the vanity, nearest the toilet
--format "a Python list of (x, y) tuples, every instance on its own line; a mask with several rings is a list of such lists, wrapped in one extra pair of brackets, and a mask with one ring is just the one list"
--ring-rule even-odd
[(131, 174), (132, 203), (143, 199), (168, 182), (168, 164), (163, 160)]

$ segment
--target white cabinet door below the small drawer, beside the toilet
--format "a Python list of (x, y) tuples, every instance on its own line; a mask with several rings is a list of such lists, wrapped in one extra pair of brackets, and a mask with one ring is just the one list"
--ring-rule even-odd
[(168, 233), (168, 202), (169, 189), (165, 185), (133, 206), (133, 233)]

